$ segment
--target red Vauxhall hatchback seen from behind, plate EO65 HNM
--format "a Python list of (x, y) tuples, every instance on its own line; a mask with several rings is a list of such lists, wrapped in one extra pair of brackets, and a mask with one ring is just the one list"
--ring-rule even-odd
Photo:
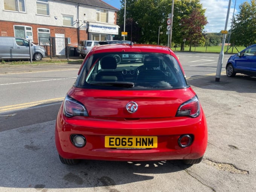
[[(140, 55), (117, 64), (115, 55)], [(171, 49), (140, 44), (95, 46), (84, 59), (56, 120), (62, 163), (182, 160), (200, 163), (207, 123)]]

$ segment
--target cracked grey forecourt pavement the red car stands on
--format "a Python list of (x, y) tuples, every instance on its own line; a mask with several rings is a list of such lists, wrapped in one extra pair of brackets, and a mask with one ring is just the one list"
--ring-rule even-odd
[[(56, 157), (55, 121), (50, 121), (1, 132), (0, 191), (256, 191), (256, 78), (221, 73), (219, 82), (215, 76), (188, 82), (208, 125), (201, 163), (149, 163), (148, 168), (146, 163), (89, 161), (64, 166)], [(12, 145), (12, 136), (18, 146)]]

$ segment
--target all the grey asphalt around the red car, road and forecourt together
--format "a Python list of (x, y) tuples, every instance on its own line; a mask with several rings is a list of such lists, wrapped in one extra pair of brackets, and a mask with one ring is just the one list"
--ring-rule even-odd
[[(256, 78), (221, 75), (215, 82), (216, 64), (210, 62), (218, 61), (217, 54), (205, 62), (200, 60), (213, 59), (203, 53), (177, 55), (207, 118), (209, 142), (201, 163), (63, 165), (54, 143), (55, 118), (79, 65), (40, 66), (37, 72), (21, 67), (18, 73), (0, 68), (0, 110), (5, 110), (0, 111), (0, 192), (256, 191)], [(26, 87), (33, 91), (24, 93)]]

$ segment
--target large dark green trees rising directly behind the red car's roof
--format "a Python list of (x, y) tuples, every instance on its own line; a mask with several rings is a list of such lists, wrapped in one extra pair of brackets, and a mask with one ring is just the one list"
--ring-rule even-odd
[[(120, 0), (121, 9), (118, 12), (118, 24), (120, 32), (123, 31), (124, 23), (124, 3)], [(174, 17), (172, 27), (172, 45), (181, 44), (184, 38), (184, 31), (181, 27), (181, 19), (188, 17), (194, 9), (198, 9), (201, 14), (205, 10), (200, 4), (200, 0), (176, 0), (174, 1)], [(171, 0), (126, 0), (126, 22), (125, 30), (128, 32), (126, 40), (130, 40), (131, 25), (133, 22), (133, 41), (137, 43), (157, 44), (158, 30), (160, 26), (160, 44), (168, 44), (166, 35), (166, 20), (172, 10)], [(135, 28), (134, 28), (135, 27)]]

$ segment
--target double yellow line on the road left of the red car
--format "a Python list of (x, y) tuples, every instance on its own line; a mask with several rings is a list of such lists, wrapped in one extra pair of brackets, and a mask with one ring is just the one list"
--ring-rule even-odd
[[(63, 101), (64, 98), (54, 98), (54, 99), (46, 99), (41, 101), (34, 101), (29, 103), (23, 103), (23, 104), (16, 104), (16, 105), (8, 105), (4, 107), (0, 107), (0, 113), (4, 111), (10, 111), (10, 110), (18, 110), (21, 108), (28, 108), (28, 107), (34, 107), (36, 105), (44, 104), (46, 102), (55, 102), (55, 101)], [(47, 106), (47, 105), (44, 105)]]

